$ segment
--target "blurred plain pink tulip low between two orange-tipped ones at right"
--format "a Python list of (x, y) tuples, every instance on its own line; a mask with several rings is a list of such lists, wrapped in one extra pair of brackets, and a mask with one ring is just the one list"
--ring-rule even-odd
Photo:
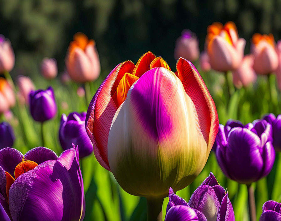
[(237, 88), (247, 87), (249, 84), (257, 80), (257, 74), (253, 69), (254, 56), (252, 54), (245, 55), (241, 65), (234, 70), (233, 83)]

